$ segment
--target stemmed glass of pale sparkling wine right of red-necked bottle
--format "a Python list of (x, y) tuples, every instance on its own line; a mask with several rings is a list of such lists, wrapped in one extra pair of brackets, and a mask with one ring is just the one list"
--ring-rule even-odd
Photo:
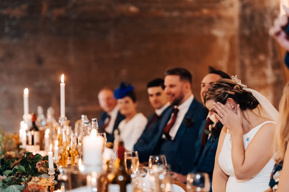
[(137, 151), (127, 151), (125, 152), (125, 170), (134, 178), (138, 172), (138, 166), (140, 162), (138, 161), (138, 152)]

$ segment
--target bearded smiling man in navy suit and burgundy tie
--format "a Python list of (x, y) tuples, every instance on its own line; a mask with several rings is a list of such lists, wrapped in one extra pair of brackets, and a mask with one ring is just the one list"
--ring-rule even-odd
[(205, 108), (192, 94), (192, 75), (188, 70), (167, 70), (164, 85), (172, 106), (160, 122), (157, 149), (166, 156), (173, 172), (187, 174), (194, 168), (194, 145), (205, 119)]

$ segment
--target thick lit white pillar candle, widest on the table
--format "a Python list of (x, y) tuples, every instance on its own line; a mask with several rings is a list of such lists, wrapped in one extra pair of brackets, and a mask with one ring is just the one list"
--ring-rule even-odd
[(83, 164), (88, 166), (95, 166), (102, 163), (103, 137), (96, 135), (96, 130), (91, 130), (90, 136), (83, 138)]

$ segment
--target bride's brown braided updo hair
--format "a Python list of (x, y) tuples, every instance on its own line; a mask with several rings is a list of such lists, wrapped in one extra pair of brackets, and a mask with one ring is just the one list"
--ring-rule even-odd
[(206, 92), (204, 105), (208, 100), (214, 100), (225, 104), (228, 98), (232, 98), (240, 109), (255, 109), (259, 102), (249, 91), (244, 90), (240, 85), (231, 79), (219, 79)]

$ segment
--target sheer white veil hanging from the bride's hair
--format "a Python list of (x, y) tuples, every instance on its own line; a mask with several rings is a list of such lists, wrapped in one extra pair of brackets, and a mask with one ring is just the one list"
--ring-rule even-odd
[(251, 92), (253, 94), (253, 96), (257, 99), (257, 101), (259, 102), (258, 108), (260, 110), (260, 113), (259, 113), (259, 110), (257, 108), (252, 110), (254, 113), (277, 122), (277, 119), (279, 117), (279, 112), (268, 101), (268, 99), (266, 97), (264, 97), (261, 93), (257, 92), (256, 90), (249, 89), (249, 88), (247, 88), (246, 85), (243, 85), (241, 83), (241, 81), (239, 79), (237, 79), (237, 75), (235, 77), (232, 76), (232, 80), (234, 80), (236, 83), (238, 83), (238, 85), (240, 85), (244, 90)]

